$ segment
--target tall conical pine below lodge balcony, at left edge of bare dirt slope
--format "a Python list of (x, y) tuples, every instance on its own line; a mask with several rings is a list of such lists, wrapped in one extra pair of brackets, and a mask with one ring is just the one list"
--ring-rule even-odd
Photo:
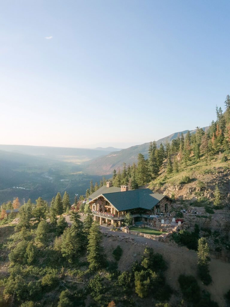
[(89, 262), (89, 269), (97, 271), (102, 267), (104, 262), (102, 233), (100, 231), (99, 223), (93, 222), (89, 231), (88, 239), (87, 260)]

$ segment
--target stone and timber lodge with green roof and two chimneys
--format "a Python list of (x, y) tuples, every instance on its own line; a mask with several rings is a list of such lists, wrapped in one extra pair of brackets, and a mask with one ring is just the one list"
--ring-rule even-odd
[(90, 196), (91, 211), (94, 220), (107, 226), (121, 226), (125, 215), (129, 212), (134, 221), (148, 221), (151, 215), (167, 214), (171, 211), (173, 200), (163, 194), (153, 193), (149, 188), (128, 190), (127, 185), (113, 187), (106, 182)]

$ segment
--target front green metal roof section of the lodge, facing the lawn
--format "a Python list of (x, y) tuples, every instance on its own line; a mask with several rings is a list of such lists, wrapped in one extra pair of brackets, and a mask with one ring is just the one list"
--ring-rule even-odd
[[(103, 196), (110, 204), (112, 204), (113, 207), (117, 209), (117, 211), (131, 210), (135, 208), (151, 210), (164, 197), (169, 198), (163, 194), (153, 193), (148, 188), (117, 193), (103, 193), (101, 196)], [(90, 203), (93, 201), (94, 199), (91, 200)]]

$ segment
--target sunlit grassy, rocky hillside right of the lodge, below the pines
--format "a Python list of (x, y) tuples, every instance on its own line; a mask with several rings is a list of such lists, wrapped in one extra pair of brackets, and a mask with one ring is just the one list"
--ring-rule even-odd
[[(230, 162), (223, 162), (223, 154), (213, 156), (209, 161), (204, 157), (196, 161), (194, 157), (179, 172), (167, 174), (167, 159), (164, 161), (159, 177), (149, 183), (154, 191), (167, 193), (176, 199), (194, 202), (202, 196), (214, 201), (215, 188), (221, 193), (221, 202), (228, 205), (230, 191)], [(172, 158), (172, 157), (171, 157)]]

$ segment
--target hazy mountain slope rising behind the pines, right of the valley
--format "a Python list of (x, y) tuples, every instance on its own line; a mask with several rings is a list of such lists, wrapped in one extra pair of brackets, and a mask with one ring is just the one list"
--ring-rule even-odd
[[(208, 127), (203, 127), (202, 129), (205, 131), (208, 129)], [(190, 131), (191, 134), (194, 134), (196, 129), (184, 130), (170, 134), (165, 138), (159, 139), (156, 142), (157, 146), (159, 147), (160, 143), (165, 145), (166, 142), (171, 142), (182, 133), (186, 135), (188, 131)], [(144, 157), (147, 158), (149, 144), (150, 142), (122, 149), (120, 151), (110, 152), (106, 156), (98, 157), (92, 161), (86, 162), (83, 170), (84, 172), (92, 175), (110, 175), (112, 174), (113, 169), (118, 170), (119, 168), (122, 168), (124, 162), (127, 165), (132, 165), (133, 162), (137, 162), (138, 153), (142, 153)]]

